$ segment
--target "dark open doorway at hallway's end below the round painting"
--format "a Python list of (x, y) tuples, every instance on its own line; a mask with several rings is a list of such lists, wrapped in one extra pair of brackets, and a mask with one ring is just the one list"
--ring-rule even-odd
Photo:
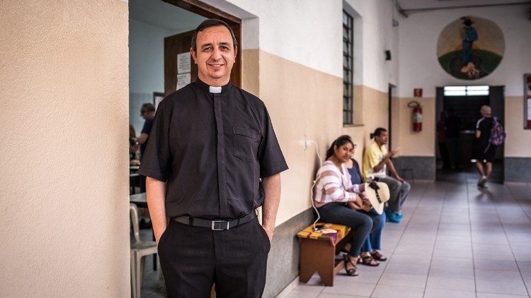
[[(455, 174), (455, 172), (476, 173), (476, 168), (471, 160), (476, 122), (481, 118), (479, 109), (482, 105), (490, 105), (493, 116), (497, 117), (503, 125), (505, 115), (504, 89), (504, 86), (496, 85), (436, 88), (437, 137), (435, 138), (435, 157), (437, 171), (435, 179), (444, 179), (448, 174)], [(443, 119), (444, 117), (447, 119)], [(490, 179), (492, 182), (503, 183), (504, 181), (503, 158), (504, 148), (501, 145), (496, 149), (496, 158), (493, 162), (493, 172)]]

